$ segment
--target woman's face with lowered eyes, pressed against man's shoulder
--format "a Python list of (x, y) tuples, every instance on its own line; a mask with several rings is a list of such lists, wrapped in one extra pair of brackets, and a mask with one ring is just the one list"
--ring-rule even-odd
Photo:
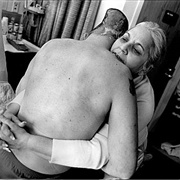
[(137, 73), (148, 59), (152, 45), (150, 32), (143, 26), (136, 26), (117, 39), (111, 47), (119, 60)]

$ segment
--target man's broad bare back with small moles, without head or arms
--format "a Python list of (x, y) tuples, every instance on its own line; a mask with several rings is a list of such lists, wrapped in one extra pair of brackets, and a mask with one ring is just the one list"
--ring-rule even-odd
[[(19, 117), (27, 121), (33, 134), (54, 139), (91, 139), (110, 111), (126, 71), (110, 51), (98, 44), (52, 40), (27, 70)], [(50, 164), (30, 151), (13, 152), (27, 167), (44, 174), (68, 169)]]

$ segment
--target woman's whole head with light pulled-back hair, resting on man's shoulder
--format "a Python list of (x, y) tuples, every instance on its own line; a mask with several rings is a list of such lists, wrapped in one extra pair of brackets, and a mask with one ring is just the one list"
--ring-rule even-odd
[(165, 47), (166, 37), (158, 24), (142, 22), (116, 40), (111, 51), (132, 73), (144, 75), (161, 58)]

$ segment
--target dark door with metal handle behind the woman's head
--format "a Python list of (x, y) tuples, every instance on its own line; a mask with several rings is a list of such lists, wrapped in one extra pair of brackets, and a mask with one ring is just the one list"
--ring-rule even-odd
[(166, 53), (164, 53), (163, 58), (161, 58), (162, 63), (159, 67), (154, 68), (148, 74), (155, 92), (156, 105), (158, 104), (168, 81), (172, 80), (166, 74), (170, 76), (173, 74), (173, 71), (176, 69), (175, 66), (180, 57), (180, 17), (177, 19), (177, 23), (175, 25), (167, 24), (163, 22), (163, 17), (166, 10), (172, 11), (177, 15), (180, 15), (180, 1), (145, 0), (137, 21), (156, 22), (166, 34), (167, 51)]

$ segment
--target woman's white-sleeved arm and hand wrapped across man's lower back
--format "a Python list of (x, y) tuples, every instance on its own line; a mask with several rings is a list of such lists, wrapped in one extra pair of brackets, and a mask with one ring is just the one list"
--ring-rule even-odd
[(12, 140), (9, 136), (5, 136), (1, 130), (0, 138), (8, 143), (9, 148), (26, 148), (47, 159), (50, 163), (70, 167), (100, 169), (108, 161), (108, 125), (105, 125), (91, 141), (85, 141), (53, 140), (31, 135), (8, 119), (4, 118), (2, 122), (9, 126), (15, 136), (15, 140)]

